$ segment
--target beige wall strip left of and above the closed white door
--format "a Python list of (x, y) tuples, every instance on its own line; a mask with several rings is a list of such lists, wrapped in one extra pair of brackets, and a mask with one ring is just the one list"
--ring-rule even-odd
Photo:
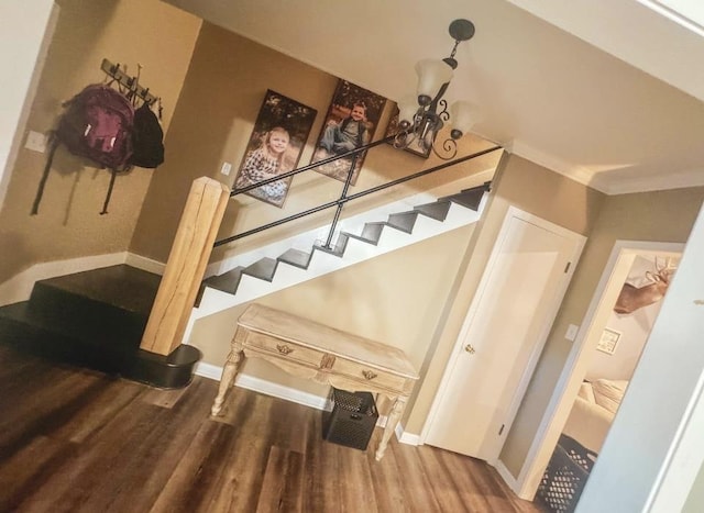
[(573, 180), (515, 155), (506, 154), (498, 167), (486, 215), (464, 255), (441, 322), (433, 334), (407, 428), (420, 433), (444, 372), (448, 358), (464, 322), (472, 297), (510, 205), (586, 235), (604, 196)]

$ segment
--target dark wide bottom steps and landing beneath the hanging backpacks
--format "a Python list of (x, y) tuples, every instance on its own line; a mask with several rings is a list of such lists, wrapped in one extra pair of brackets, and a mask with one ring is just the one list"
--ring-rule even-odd
[(160, 388), (185, 387), (198, 349), (140, 349), (160, 281), (127, 265), (37, 281), (29, 301), (0, 308), (0, 343)]

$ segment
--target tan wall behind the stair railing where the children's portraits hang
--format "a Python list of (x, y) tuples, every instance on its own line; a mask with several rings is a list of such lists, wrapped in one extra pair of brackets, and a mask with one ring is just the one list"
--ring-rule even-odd
[[(299, 166), (307, 165), (337, 82), (338, 79), (329, 74), (221, 27), (204, 23), (166, 138), (166, 163), (156, 170), (150, 185), (131, 250), (165, 261), (190, 182), (200, 176), (209, 176), (232, 186), (267, 89), (318, 111), (308, 145), (299, 161)], [(391, 108), (387, 108), (380, 123), (382, 129), (385, 127), (389, 111)], [(377, 136), (381, 135), (377, 133)], [(465, 137), (462, 144), (461, 155), (492, 146), (473, 136)], [(499, 155), (499, 152), (495, 152), (409, 182), (405, 187), (375, 194), (369, 200), (351, 203), (345, 207), (344, 215), (442, 183), (463, 180), (477, 171), (494, 169)], [(233, 166), (230, 176), (220, 174), (223, 161)], [(386, 145), (377, 147), (369, 152), (364, 168), (351, 192), (359, 192), (437, 164), (439, 160), (433, 157), (426, 160)], [(342, 182), (308, 171), (294, 178), (283, 209), (239, 196), (230, 202), (219, 238), (331, 201), (341, 190)], [(453, 192), (458, 190), (455, 188)], [(327, 224), (332, 214), (332, 210), (328, 210), (238, 241), (216, 252), (213, 260)]]

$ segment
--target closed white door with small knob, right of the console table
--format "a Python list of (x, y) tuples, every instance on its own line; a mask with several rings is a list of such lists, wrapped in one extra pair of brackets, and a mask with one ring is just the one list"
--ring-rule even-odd
[(440, 384), (425, 443), (482, 459), (501, 450), (584, 237), (512, 208)]

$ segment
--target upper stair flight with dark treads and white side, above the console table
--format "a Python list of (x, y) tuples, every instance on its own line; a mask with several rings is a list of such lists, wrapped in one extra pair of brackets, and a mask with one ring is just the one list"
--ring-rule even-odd
[(383, 222), (366, 222), (356, 234), (341, 232), (331, 248), (320, 243), (310, 250), (292, 248), (277, 257), (260, 258), (248, 266), (237, 266), (207, 278), (191, 325), (195, 320), (227, 308), (474, 223), (488, 189), (490, 182), (392, 213)]

